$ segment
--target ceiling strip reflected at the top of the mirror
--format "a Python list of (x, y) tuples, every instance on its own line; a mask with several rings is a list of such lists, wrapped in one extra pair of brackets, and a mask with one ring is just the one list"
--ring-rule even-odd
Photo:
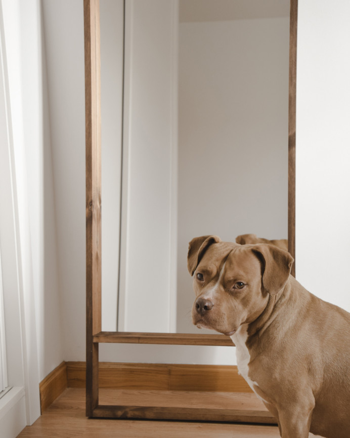
[(180, 22), (289, 16), (290, 0), (180, 0)]

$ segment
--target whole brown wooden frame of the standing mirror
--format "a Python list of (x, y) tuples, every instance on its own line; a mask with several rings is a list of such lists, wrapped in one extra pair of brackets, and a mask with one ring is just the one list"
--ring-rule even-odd
[[(288, 244), (295, 254), (295, 100), (297, 0), (290, 2)], [(99, 344), (142, 343), (233, 346), (224, 335), (103, 332), (101, 330), (101, 81), (100, 2), (84, 0), (86, 135), (86, 416), (271, 422), (251, 411), (99, 405)], [(295, 270), (293, 268), (293, 274)], [(266, 413), (268, 414), (268, 413)]]

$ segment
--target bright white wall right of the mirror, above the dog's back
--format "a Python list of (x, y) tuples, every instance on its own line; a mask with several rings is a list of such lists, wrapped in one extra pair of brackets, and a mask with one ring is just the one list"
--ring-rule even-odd
[(296, 278), (350, 310), (350, 3), (300, 0)]

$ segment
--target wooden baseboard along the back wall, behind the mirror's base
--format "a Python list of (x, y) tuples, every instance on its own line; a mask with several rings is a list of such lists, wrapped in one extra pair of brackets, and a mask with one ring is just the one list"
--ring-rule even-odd
[[(84, 362), (67, 362), (68, 387), (85, 386)], [(251, 393), (236, 366), (100, 362), (99, 387)]]

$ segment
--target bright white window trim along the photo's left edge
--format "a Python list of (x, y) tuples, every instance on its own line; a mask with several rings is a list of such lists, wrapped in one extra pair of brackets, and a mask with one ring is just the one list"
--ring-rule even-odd
[[(40, 4), (33, 0), (27, 6), (39, 11)], [(2, 438), (14, 438), (40, 416), (28, 195), (21, 138), (24, 91), (18, 93), (22, 85), (18, 71), (25, 68), (20, 65), (26, 36), (21, 32), (22, 9), (18, 0), (0, 0), (0, 244), (8, 384), (13, 386), (0, 403)]]

